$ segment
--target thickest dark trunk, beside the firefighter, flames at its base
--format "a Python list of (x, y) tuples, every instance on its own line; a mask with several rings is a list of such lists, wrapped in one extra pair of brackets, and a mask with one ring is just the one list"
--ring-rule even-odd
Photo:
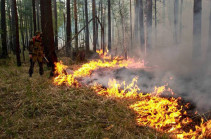
[(43, 32), (42, 42), (44, 45), (46, 57), (49, 60), (48, 65), (52, 67), (51, 75), (53, 75), (55, 71), (54, 63), (57, 62), (57, 56), (54, 46), (51, 0), (41, 0), (40, 9), (41, 9), (41, 27)]

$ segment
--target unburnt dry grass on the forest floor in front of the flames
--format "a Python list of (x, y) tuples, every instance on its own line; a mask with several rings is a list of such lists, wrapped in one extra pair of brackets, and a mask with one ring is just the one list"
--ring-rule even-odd
[(55, 86), (47, 68), (40, 76), (35, 67), (30, 78), (29, 62), (0, 59), (0, 138), (168, 138), (137, 126), (128, 101)]

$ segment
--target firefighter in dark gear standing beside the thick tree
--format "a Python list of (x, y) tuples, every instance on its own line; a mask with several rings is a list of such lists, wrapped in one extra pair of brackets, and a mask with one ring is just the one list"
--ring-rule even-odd
[(41, 32), (36, 32), (35, 36), (29, 42), (29, 58), (30, 58), (30, 68), (29, 76), (32, 77), (34, 64), (36, 61), (39, 64), (40, 75), (44, 74), (43, 70), (43, 58), (44, 58), (44, 47), (42, 45)]

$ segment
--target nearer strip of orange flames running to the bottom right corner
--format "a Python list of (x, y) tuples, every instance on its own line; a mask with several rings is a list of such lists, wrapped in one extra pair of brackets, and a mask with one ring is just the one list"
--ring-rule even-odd
[(150, 94), (138, 93), (140, 89), (136, 85), (137, 77), (133, 79), (131, 84), (125, 85), (125, 82), (118, 83), (112, 79), (108, 83), (107, 88), (102, 85), (95, 84), (92, 88), (98, 95), (112, 98), (130, 98), (139, 99), (135, 104), (129, 107), (137, 113), (137, 124), (140, 126), (148, 126), (166, 133), (176, 134), (173, 138), (203, 138), (211, 137), (211, 120), (195, 127), (195, 131), (185, 132), (183, 127), (192, 123), (189, 117), (182, 118), (187, 115), (184, 106), (180, 106), (179, 98), (162, 98), (159, 97), (164, 91), (168, 91), (166, 86), (155, 87), (154, 92)]

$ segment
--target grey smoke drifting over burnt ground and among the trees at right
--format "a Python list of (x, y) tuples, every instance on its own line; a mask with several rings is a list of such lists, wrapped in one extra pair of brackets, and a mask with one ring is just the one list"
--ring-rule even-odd
[[(181, 1), (179, 3), (179, 27), (176, 30), (178, 33), (178, 43), (175, 43), (174, 1), (166, 0), (164, 8), (163, 3), (157, 1), (158, 24), (155, 32), (153, 22), (152, 48), (144, 57), (145, 61), (149, 63), (147, 66), (154, 67), (152, 70), (126, 68), (116, 70), (100, 69), (94, 72), (90, 78), (84, 79), (84, 82), (99, 82), (107, 87), (110, 78), (115, 78), (119, 82), (126, 81), (126, 83), (130, 83), (134, 77), (138, 76), (138, 86), (142, 92), (152, 92), (155, 86), (168, 83), (169, 87), (178, 96), (185, 100), (193, 101), (197, 111), (210, 111), (211, 63), (206, 63), (206, 61), (209, 61), (206, 56), (210, 55), (207, 53), (207, 48), (210, 45), (208, 44), (208, 34), (211, 7), (209, 0), (202, 1), (202, 51), (201, 58), (195, 62), (193, 57), (193, 2), (193, 0), (185, 0), (183, 1), (183, 7), (181, 7)], [(182, 14), (180, 14), (181, 8)], [(133, 14), (133, 19), (134, 17)], [(130, 23), (129, 21), (125, 22)], [(115, 36), (119, 36), (120, 32), (121, 30), (115, 30)], [(140, 41), (133, 41), (132, 49), (132, 46), (130, 46), (130, 33), (126, 30), (125, 34), (124, 45), (129, 47), (130, 56), (143, 58), (143, 52), (140, 50)], [(139, 38), (139, 36), (136, 37)], [(118, 46), (119, 40), (115, 40), (115, 42), (113, 42), (115, 44), (114, 49), (121, 50), (122, 43)]]

